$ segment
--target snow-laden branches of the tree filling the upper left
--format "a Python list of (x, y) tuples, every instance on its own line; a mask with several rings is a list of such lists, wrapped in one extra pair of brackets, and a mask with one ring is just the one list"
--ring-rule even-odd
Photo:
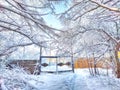
[(47, 0), (0, 1), (0, 56), (8, 55), (18, 47), (35, 44), (45, 47), (57, 34), (48, 26), (44, 15), (53, 12)]

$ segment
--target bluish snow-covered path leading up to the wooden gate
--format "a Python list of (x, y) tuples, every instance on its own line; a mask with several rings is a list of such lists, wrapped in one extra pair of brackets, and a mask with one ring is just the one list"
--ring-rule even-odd
[[(39, 86), (40, 90), (89, 90), (85, 82), (85, 77), (76, 74), (49, 75), (49, 78), (42, 79), (44, 84)], [(50, 78), (51, 77), (51, 78)]]

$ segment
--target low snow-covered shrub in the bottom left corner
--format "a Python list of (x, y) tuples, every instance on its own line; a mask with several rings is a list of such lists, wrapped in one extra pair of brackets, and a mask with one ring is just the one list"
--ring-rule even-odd
[(4, 86), (8, 90), (38, 90), (37, 84), (35, 85), (34, 83), (42, 83), (34, 78), (31, 78), (31, 75), (20, 67), (13, 69), (1, 68), (0, 78), (4, 81)]

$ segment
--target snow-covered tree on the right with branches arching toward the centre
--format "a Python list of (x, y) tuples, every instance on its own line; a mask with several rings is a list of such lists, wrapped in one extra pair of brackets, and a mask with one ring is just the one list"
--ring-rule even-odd
[[(94, 53), (96, 62), (105, 53), (112, 51), (118, 67), (119, 4), (119, 0), (73, 0), (69, 9), (58, 15), (67, 27), (72, 28), (74, 32), (79, 31), (74, 37), (81, 37), (76, 40), (82, 40), (81, 45), (87, 48), (89, 55)], [(79, 46), (77, 48), (80, 50)], [(119, 69), (117, 73), (119, 73)]]

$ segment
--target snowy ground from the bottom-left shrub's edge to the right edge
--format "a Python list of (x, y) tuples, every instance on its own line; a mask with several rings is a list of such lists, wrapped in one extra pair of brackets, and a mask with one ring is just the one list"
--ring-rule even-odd
[(90, 76), (87, 69), (75, 70), (75, 74), (42, 74), (37, 78), (43, 82), (39, 90), (120, 90), (120, 80), (112, 75)]

